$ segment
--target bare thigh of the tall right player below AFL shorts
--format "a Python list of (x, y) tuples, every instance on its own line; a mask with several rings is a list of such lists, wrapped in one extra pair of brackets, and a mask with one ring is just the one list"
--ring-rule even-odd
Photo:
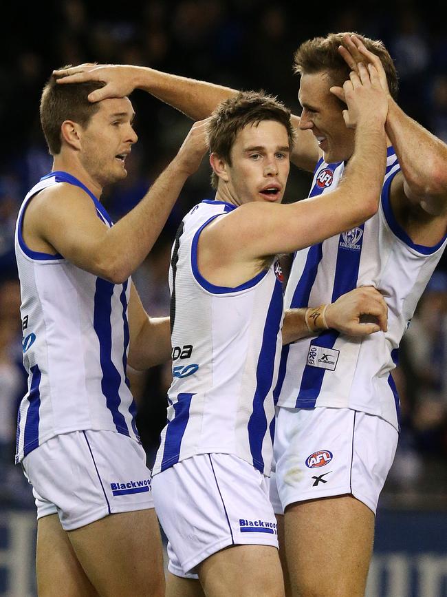
[(287, 506), (285, 545), (292, 594), (363, 596), (373, 536), (373, 512), (351, 495)]

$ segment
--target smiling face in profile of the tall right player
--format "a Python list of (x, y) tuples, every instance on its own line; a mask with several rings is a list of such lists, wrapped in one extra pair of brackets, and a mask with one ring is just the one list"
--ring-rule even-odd
[(298, 93), (300, 128), (312, 130), (327, 163), (349, 160), (354, 150), (353, 129), (345, 125), (340, 101), (329, 91), (332, 85), (324, 72), (303, 74)]

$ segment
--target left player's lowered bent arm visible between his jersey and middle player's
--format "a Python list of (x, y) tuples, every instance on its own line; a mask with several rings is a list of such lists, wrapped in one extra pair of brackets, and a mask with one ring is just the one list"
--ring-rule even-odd
[(144, 370), (168, 361), (171, 358), (169, 317), (149, 317), (133, 284), (128, 313), (129, 365)]

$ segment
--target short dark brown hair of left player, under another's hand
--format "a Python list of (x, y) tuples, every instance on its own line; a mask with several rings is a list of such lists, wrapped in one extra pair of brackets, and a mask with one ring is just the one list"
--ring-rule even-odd
[(56, 77), (50, 76), (43, 87), (40, 113), (43, 134), (52, 156), (61, 152), (62, 123), (70, 120), (86, 127), (99, 109), (99, 102), (91, 103), (87, 96), (104, 85), (102, 81), (58, 85)]

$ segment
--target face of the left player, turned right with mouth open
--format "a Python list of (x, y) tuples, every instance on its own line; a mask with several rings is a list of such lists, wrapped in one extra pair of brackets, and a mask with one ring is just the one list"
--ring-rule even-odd
[(129, 98), (102, 100), (83, 129), (80, 160), (102, 187), (127, 176), (125, 160), (138, 140), (132, 127), (134, 116)]

